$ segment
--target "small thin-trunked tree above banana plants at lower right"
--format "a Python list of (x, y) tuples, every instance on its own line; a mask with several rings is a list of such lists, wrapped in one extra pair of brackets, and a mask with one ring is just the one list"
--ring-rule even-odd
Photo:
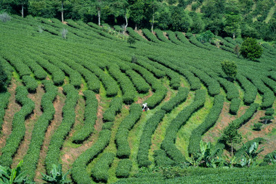
[(240, 143), (242, 141), (242, 136), (237, 131), (238, 127), (235, 123), (230, 123), (221, 136), (221, 140), (231, 145), (231, 156), (233, 156), (233, 144)]

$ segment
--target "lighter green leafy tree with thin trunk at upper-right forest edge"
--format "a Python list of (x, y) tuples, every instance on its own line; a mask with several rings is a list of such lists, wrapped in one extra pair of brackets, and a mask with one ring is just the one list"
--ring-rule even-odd
[(226, 25), (224, 31), (228, 34), (233, 35), (233, 39), (235, 39), (236, 35), (239, 33), (239, 27), (242, 20), (242, 17), (239, 14), (234, 14), (231, 12), (230, 14), (225, 14)]

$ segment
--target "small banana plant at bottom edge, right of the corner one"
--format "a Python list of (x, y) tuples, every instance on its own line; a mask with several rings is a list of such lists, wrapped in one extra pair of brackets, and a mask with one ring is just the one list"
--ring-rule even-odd
[(58, 166), (53, 164), (52, 171), (50, 173), (50, 175), (41, 173), (41, 175), (43, 176), (42, 180), (48, 183), (56, 184), (71, 183), (71, 181), (66, 180), (66, 176), (69, 174), (69, 171), (66, 172), (66, 174), (63, 174), (61, 164), (59, 164)]

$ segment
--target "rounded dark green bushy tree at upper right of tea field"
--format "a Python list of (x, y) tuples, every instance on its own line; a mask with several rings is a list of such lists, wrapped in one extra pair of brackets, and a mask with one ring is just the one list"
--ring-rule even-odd
[(242, 43), (240, 53), (244, 58), (255, 61), (255, 59), (259, 59), (262, 56), (263, 49), (256, 39), (246, 38)]

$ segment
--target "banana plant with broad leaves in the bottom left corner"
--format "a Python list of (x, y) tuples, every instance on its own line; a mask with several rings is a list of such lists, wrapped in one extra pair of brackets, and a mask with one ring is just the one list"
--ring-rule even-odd
[(21, 165), (23, 161), (20, 161), (16, 168), (10, 169), (0, 165), (0, 184), (12, 184), (12, 183), (30, 183), (26, 172), (21, 172)]

